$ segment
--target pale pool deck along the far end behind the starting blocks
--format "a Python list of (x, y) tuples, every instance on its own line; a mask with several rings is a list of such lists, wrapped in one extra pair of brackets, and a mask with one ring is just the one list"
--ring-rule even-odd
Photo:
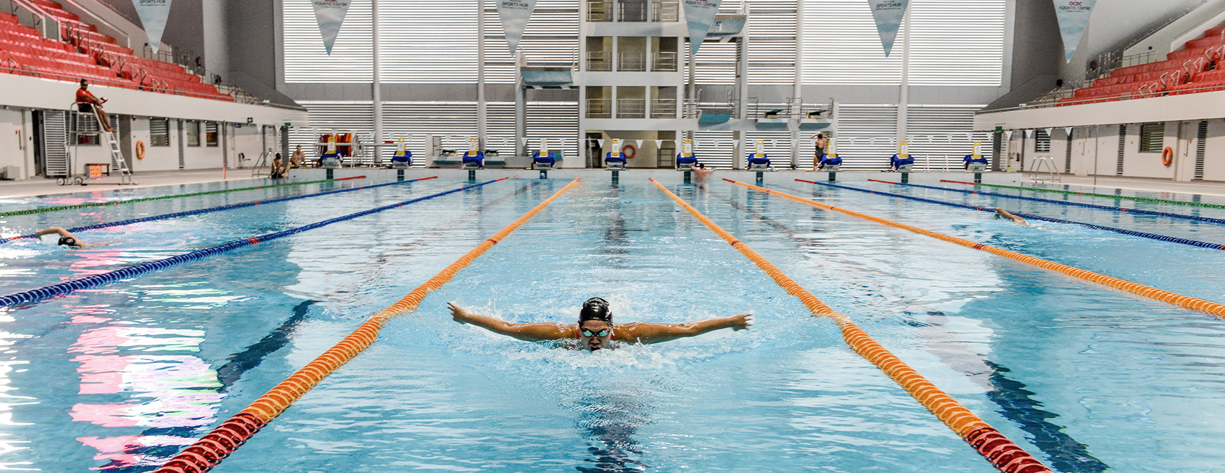
[[(293, 169), (290, 172), (292, 178), (299, 180), (317, 180), (326, 178), (325, 169)], [(370, 168), (341, 168), (333, 170), (334, 178), (348, 178), (356, 175), (369, 175), (371, 178), (377, 178), (380, 180), (396, 179), (396, 169), (370, 169)], [(404, 169), (405, 179), (424, 178), (429, 175), (437, 175), (440, 178), (451, 179), (464, 179), (468, 176), (468, 172), (463, 169)], [(478, 179), (497, 179), (497, 178), (535, 178), (539, 175), (537, 170), (528, 169), (479, 169), (477, 170)], [(548, 174), (550, 178), (564, 178), (572, 179), (582, 176), (583, 179), (600, 179), (610, 180), (611, 173), (604, 169), (555, 169), (550, 170)], [(621, 179), (647, 179), (654, 178), (660, 181), (682, 181), (684, 173), (669, 169), (630, 169), (619, 173)], [(745, 183), (755, 183), (757, 178), (756, 172), (745, 170), (720, 170), (712, 175), (712, 179), (735, 179)], [(927, 185), (941, 185), (941, 179), (949, 180), (974, 180), (973, 173), (909, 173), (909, 181), (915, 184), (927, 184)], [(1047, 178), (1044, 175), (1044, 178)], [(791, 183), (794, 179), (807, 179), (807, 180), (820, 180), (828, 181), (828, 173), (815, 173), (815, 172), (794, 172), (794, 170), (779, 170), (779, 172), (767, 172), (762, 173), (763, 183), (768, 184), (782, 184)], [(837, 173), (838, 181), (865, 181), (867, 179), (878, 180), (891, 180), (900, 181), (900, 173), (880, 173), (880, 172), (842, 172)], [(192, 169), (192, 170), (163, 170), (163, 172), (147, 172), (137, 173), (134, 176), (136, 185), (119, 185), (118, 176), (103, 178), (97, 180), (88, 180), (89, 185), (56, 185), (54, 179), (42, 179), (34, 178), (28, 180), (18, 181), (0, 181), (0, 197), (28, 197), (28, 196), (45, 196), (45, 195), (59, 195), (59, 194), (76, 194), (76, 192), (97, 192), (115, 189), (138, 189), (138, 187), (154, 187), (154, 186), (168, 186), (168, 185), (181, 185), (181, 184), (205, 184), (205, 183), (221, 183), (221, 181), (249, 181), (251, 185), (257, 185), (258, 183), (268, 181), (267, 178), (251, 178), (250, 169), (230, 169), (225, 172), (224, 179), (222, 169)], [(1046, 179), (1049, 180), (1049, 178)], [(1225, 197), (1225, 183), (1218, 181), (1196, 181), (1196, 183), (1175, 183), (1167, 179), (1144, 179), (1144, 178), (1118, 178), (1118, 176), (1077, 176), (1063, 174), (1060, 176), (1061, 183), (1055, 183), (1056, 185), (1063, 184), (1069, 185), (1072, 189), (1083, 189), (1090, 192), (1102, 192), (1112, 191), (1115, 189), (1122, 190), (1136, 190), (1136, 191), (1150, 191), (1150, 192), (1174, 192), (1174, 194), (1186, 194), (1186, 195), (1205, 195), (1205, 196), (1220, 196)], [(1022, 185), (1031, 184), (1034, 179), (1025, 173), (984, 173), (982, 181), (987, 184), (1002, 184), (1002, 185)], [(1096, 183), (1096, 189), (1094, 189), (1094, 183)]]

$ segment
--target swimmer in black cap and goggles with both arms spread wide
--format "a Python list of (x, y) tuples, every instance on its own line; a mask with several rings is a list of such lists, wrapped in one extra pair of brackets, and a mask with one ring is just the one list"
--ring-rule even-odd
[(752, 314), (733, 315), (722, 319), (698, 320), (687, 324), (612, 324), (609, 303), (600, 298), (590, 298), (583, 303), (578, 312), (578, 324), (513, 324), (484, 315), (477, 315), (463, 308), (448, 304), (451, 317), (459, 324), (472, 324), (497, 335), (514, 337), (526, 342), (545, 342), (573, 339), (575, 348), (598, 350), (612, 348), (612, 341), (627, 343), (659, 343), (677, 338), (696, 337), (715, 330), (735, 331), (753, 325)]

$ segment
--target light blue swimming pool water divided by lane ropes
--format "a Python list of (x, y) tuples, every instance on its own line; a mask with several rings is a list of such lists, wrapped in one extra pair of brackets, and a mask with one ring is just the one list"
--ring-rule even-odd
[[(0, 467), (151, 471), (568, 183), (495, 183), (4, 309)], [(74, 252), (10, 243), (0, 245), (0, 294), (463, 184), (436, 179), (89, 232), (82, 236), (114, 244)], [(23, 234), (350, 185), (359, 184), (16, 216), (0, 225), (4, 235)], [(1225, 227), (1210, 223), (848, 185), (1225, 241)], [(1052, 469), (1210, 472), (1225, 463), (1225, 321), (1215, 316), (728, 183), (666, 186)], [(1225, 300), (1219, 250), (1077, 225), (1018, 227), (802, 183), (767, 186)], [(39, 203), (49, 202), (24, 202)], [(1126, 206), (1225, 218), (1225, 210)], [(581, 353), (461, 326), (446, 311), (456, 301), (512, 321), (568, 322), (594, 295), (611, 301), (619, 322), (752, 311), (757, 324)], [(650, 183), (628, 178), (581, 181), (392, 320), (216, 471), (412, 468), (995, 471), (848, 349), (829, 321), (809, 315)]]

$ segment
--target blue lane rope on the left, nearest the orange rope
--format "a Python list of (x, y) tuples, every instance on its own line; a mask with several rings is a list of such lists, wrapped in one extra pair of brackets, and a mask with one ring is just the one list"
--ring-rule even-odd
[(506, 179), (510, 179), (510, 178), (501, 178), (501, 179), (495, 179), (495, 180), (490, 180), (490, 181), (485, 181), (485, 183), (480, 183), (480, 184), (473, 184), (473, 185), (468, 185), (468, 186), (463, 186), (463, 187), (458, 187), (458, 189), (452, 189), (452, 190), (443, 191), (443, 192), (430, 194), (428, 196), (417, 197), (417, 199), (407, 200), (407, 201), (398, 202), (398, 203), (386, 205), (386, 206), (381, 206), (381, 207), (375, 207), (375, 208), (365, 210), (365, 211), (361, 211), (361, 212), (349, 213), (347, 216), (341, 216), (341, 217), (330, 218), (330, 219), (321, 221), (321, 222), (315, 222), (315, 223), (311, 223), (309, 225), (303, 225), (303, 227), (298, 227), (298, 228), (290, 228), (288, 230), (282, 230), (282, 232), (276, 232), (276, 233), (268, 233), (268, 234), (263, 234), (263, 235), (258, 235), (258, 236), (244, 238), (241, 240), (234, 240), (234, 241), (227, 243), (224, 245), (217, 245), (217, 246), (212, 246), (212, 248), (206, 248), (203, 250), (196, 250), (196, 251), (191, 251), (191, 252), (185, 252), (185, 254), (179, 255), (179, 256), (172, 256), (172, 257), (168, 257), (168, 259), (156, 260), (156, 261), (146, 261), (146, 262), (142, 262), (140, 265), (129, 266), (129, 267), (125, 267), (125, 268), (121, 268), (121, 270), (104, 272), (104, 273), (100, 273), (100, 274), (87, 276), (87, 277), (83, 277), (81, 279), (72, 279), (72, 281), (69, 281), (69, 282), (64, 282), (64, 283), (59, 283), (59, 284), (54, 284), (54, 286), (48, 286), (48, 287), (33, 289), (33, 290), (27, 290), (27, 292), (23, 292), (23, 293), (17, 293), (17, 294), (0, 297), (0, 308), (15, 306), (15, 305), (18, 305), (18, 304), (34, 303), (34, 301), (39, 301), (39, 300), (43, 300), (43, 299), (50, 299), (50, 298), (59, 297), (59, 295), (71, 294), (72, 292), (76, 292), (77, 289), (96, 288), (96, 287), (99, 287), (99, 286), (110, 284), (110, 283), (120, 281), (120, 279), (131, 278), (131, 277), (135, 277), (135, 276), (149, 273), (149, 272), (153, 272), (153, 271), (158, 271), (158, 270), (167, 268), (167, 267), (170, 267), (170, 266), (181, 265), (181, 263), (185, 263), (185, 262), (203, 260), (206, 257), (219, 255), (219, 254), (223, 254), (223, 252), (227, 252), (227, 251), (230, 251), (230, 250), (236, 250), (239, 248), (251, 246), (251, 245), (255, 245), (255, 244), (258, 244), (258, 243), (274, 240), (274, 239), (278, 239), (278, 238), (282, 238), (282, 236), (289, 236), (289, 235), (293, 235), (293, 234), (296, 234), (296, 233), (301, 233), (301, 232), (316, 229), (316, 228), (320, 228), (320, 227), (326, 227), (326, 225), (330, 225), (330, 224), (333, 224), (333, 223), (337, 223), (337, 222), (352, 221), (354, 218), (368, 216), (368, 214), (371, 214), (371, 213), (382, 212), (382, 211), (386, 211), (386, 210), (390, 210), (390, 208), (397, 208), (401, 205), (415, 203), (415, 202), (430, 200), (430, 199), (434, 199), (434, 197), (441, 197), (441, 196), (445, 196), (447, 194), (454, 194), (454, 192), (458, 192), (458, 191), (462, 191), (462, 190), (467, 190), (467, 189), (472, 189), (472, 187), (479, 187), (479, 186), (483, 186), (483, 185), (486, 185), (486, 184), (492, 184), (492, 183), (497, 183), (500, 180), (506, 180)]

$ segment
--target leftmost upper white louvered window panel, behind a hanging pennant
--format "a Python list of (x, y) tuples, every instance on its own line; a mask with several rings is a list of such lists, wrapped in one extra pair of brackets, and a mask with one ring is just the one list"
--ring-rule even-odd
[[(447, 1), (448, 2), (448, 1)], [(428, 2), (436, 5), (437, 2)], [(383, 9), (386, 11), (386, 9)], [(285, 82), (372, 81), (370, 2), (353, 1), (332, 54), (323, 49), (310, 0), (283, 0)], [(386, 33), (385, 33), (386, 36)], [(385, 48), (387, 48), (385, 45)]]

